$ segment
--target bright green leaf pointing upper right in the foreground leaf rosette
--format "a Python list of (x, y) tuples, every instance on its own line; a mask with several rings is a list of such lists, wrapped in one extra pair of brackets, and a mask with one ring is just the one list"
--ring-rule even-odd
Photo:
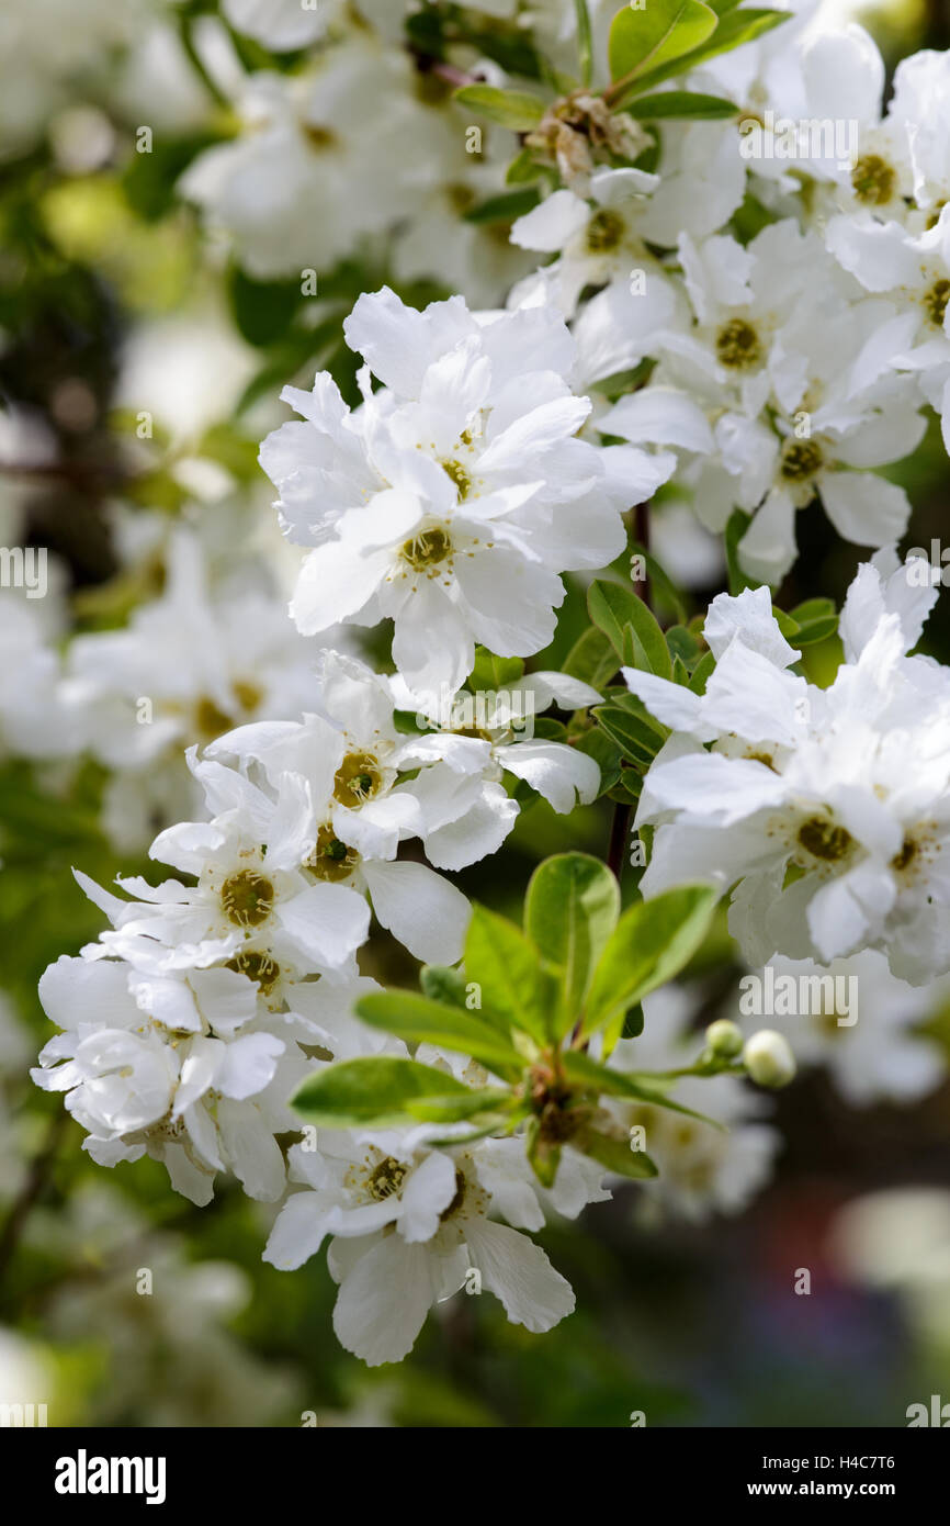
[(622, 1024), (628, 1007), (679, 974), (700, 946), (717, 899), (709, 885), (683, 885), (624, 913), (593, 977), (586, 1033)]

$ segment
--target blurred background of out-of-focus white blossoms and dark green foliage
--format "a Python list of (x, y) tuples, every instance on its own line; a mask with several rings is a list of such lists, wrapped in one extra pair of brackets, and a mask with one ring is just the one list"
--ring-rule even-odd
[[(514, 0), (491, 18), (442, 9), (462, 56), (529, 73)], [(37, 980), (102, 925), (70, 865), (101, 882), (145, 871), (154, 832), (188, 812), (186, 742), (261, 713), (267, 674), (276, 688), (307, 664), (293, 632), (284, 650), (268, 626), (296, 565), (256, 465), (287, 417), (281, 386), (328, 368), (355, 398), (342, 320), (361, 290), (493, 305), (526, 269), (503, 211), (459, 218), (503, 188), (514, 140), (488, 130), (479, 163), (465, 156), (465, 119), (430, 67), (428, 11), (393, 69), (396, 0), (0, 8), (0, 543), (49, 554), (43, 598), (0, 589), (0, 1404), (32, 1396), (50, 1425), (101, 1427), (305, 1413), (366, 1427), (904, 1425), (910, 1404), (950, 1402), (945, 983), (921, 995), (866, 967), (862, 990), (880, 986), (883, 1003), (859, 1024), (866, 1050), (845, 1051), (859, 1030), (834, 1022), (790, 1033), (802, 1073), (770, 1112), (737, 1082), (723, 1093), (729, 1143), (669, 1129), (659, 1187), (621, 1187), (579, 1225), (550, 1227), (541, 1242), (578, 1299), (555, 1331), (529, 1335), (493, 1299), (457, 1294), (406, 1363), (377, 1370), (332, 1335), (323, 1257), (294, 1274), (261, 1262), (273, 1210), (236, 1184), (195, 1209), (148, 1160), (96, 1167), (29, 1080), (52, 1033)], [(941, 0), (837, 0), (831, 14), (866, 24), (889, 67), (950, 44)], [(274, 104), (274, 79), (303, 79), (307, 104), (287, 85)], [(349, 159), (320, 160), (314, 186), (294, 180), (282, 137), (297, 107), (314, 153), (328, 146), (322, 110), (349, 134)], [(929, 546), (947, 504), (936, 426), (887, 475), (913, 501), (906, 546)], [(819, 508), (802, 513), (799, 543), (779, 603), (840, 603), (857, 548)], [(686, 615), (724, 586), (718, 546), (674, 504), (654, 549)], [(229, 700), (209, 700), (188, 639), (253, 600), (255, 682), (235, 670)], [(183, 621), (180, 671), (157, 694), (149, 649)], [(557, 667), (584, 621), (572, 588), (532, 665)], [(924, 650), (950, 661), (945, 597)], [(808, 652), (816, 682), (836, 662), (836, 639)], [(142, 694), (166, 723), (148, 755), (131, 716)], [(517, 916), (538, 859), (602, 853), (608, 832), (608, 803), (566, 824), (526, 801), (505, 879), (488, 862), (459, 881)], [(415, 981), (384, 940), (367, 972)], [(741, 974), (720, 926), (648, 1012), (657, 1051), (737, 1016)]]

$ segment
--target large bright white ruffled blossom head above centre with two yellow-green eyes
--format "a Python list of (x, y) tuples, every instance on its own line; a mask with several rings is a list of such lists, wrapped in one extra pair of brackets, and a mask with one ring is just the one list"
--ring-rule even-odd
[(305, 633), (392, 618), (406, 682), (454, 690), (476, 641), (502, 656), (547, 644), (558, 572), (618, 555), (624, 499), (573, 438), (590, 403), (570, 391), (573, 345), (552, 311), (474, 317), (453, 298), (418, 313), (384, 288), (345, 330), (367, 362), (361, 409), (326, 375), (311, 397), (285, 389), (310, 423), (261, 452), (285, 531), (314, 546), (291, 613)]

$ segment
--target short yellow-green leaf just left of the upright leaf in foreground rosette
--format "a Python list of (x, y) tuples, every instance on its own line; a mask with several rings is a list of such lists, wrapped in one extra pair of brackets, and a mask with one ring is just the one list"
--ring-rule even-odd
[(508, 1030), (549, 1042), (550, 981), (537, 949), (514, 922), (476, 905), (465, 940), (465, 977), (482, 987), (488, 1021), (497, 1018)]

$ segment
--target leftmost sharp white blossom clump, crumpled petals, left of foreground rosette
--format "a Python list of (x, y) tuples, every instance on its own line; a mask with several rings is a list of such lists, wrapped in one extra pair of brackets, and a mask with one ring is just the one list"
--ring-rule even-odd
[(203, 969), (152, 980), (124, 961), (63, 957), (40, 996), (64, 1032), (32, 1077), (67, 1093), (99, 1164), (148, 1152), (197, 1204), (210, 1201), (215, 1172), (229, 1167), (250, 1196), (281, 1196), (274, 1132), (293, 1126), (287, 1099), (307, 1065), (296, 1045), (256, 1022), (244, 975)]

